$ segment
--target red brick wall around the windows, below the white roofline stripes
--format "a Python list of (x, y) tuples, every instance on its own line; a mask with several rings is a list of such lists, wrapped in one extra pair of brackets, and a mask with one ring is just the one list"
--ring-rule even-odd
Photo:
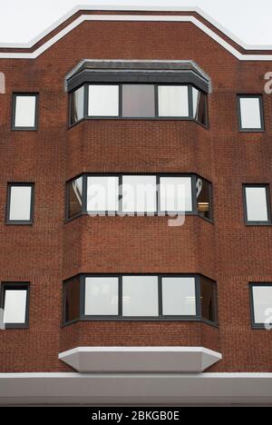
[[(144, 42), (143, 42), (144, 41)], [(64, 76), (83, 58), (184, 59), (212, 79), (209, 130), (186, 121), (90, 121), (67, 130)], [(77, 345), (203, 345), (212, 371), (272, 371), (271, 334), (252, 330), (249, 281), (272, 281), (272, 227), (246, 227), (242, 183), (270, 183), (265, 133), (238, 133), (238, 93), (263, 93), (271, 63), (239, 62), (189, 23), (85, 22), (35, 60), (0, 59), (0, 281), (29, 281), (28, 330), (0, 331), (0, 371), (65, 371)], [(12, 132), (13, 91), (39, 92), (38, 132)], [(64, 223), (66, 180), (83, 172), (195, 172), (213, 183), (214, 224), (188, 217)], [(33, 226), (5, 226), (7, 182), (34, 182)], [(189, 322), (82, 322), (61, 328), (63, 280), (78, 272), (199, 272), (218, 282), (219, 329)]]

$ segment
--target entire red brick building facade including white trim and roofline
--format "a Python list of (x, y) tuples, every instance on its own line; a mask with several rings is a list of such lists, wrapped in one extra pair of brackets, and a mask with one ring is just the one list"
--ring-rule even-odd
[[(4, 311), (8, 291), (11, 300), (16, 289), (26, 293), (24, 325), (6, 322), (0, 331), (1, 403), (271, 402), (272, 334), (257, 320), (259, 287), (272, 308), (272, 98), (264, 90), (271, 66), (272, 51), (246, 49), (199, 12), (170, 9), (79, 10), (33, 45), (1, 46)], [(153, 117), (120, 111), (86, 117), (89, 97), (89, 109), (84, 106), (79, 122), (71, 122), (74, 91), (100, 84), (156, 84), (159, 110)], [(184, 84), (192, 103), (192, 87), (205, 95), (205, 123), (198, 122), (194, 104), (188, 119), (160, 115), (160, 87)], [(36, 113), (34, 125), (25, 127), (24, 96), (34, 99)], [(250, 118), (257, 125), (245, 124)], [(67, 215), (75, 177), (87, 182), (90, 175), (131, 174), (196, 176), (192, 203), (200, 176), (209, 183), (204, 201), (210, 216), (198, 213), (197, 198), (181, 226), (169, 226), (169, 216), (158, 214)], [(15, 212), (12, 218), (17, 183), (31, 188), (29, 221), (20, 222)], [(261, 217), (256, 209), (264, 193), (267, 212)], [(83, 288), (86, 275), (115, 277), (122, 292), (121, 276), (160, 276), (162, 297), (167, 277), (193, 276), (200, 286), (205, 277), (216, 287), (215, 316), (162, 317), (163, 305), (161, 317), (153, 319), (125, 319), (120, 311), (119, 317), (83, 318), (83, 292), (76, 285)], [(63, 288), (72, 278), (67, 295)], [(120, 286), (118, 291), (120, 300)], [(205, 294), (198, 291), (200, 304)], [(65, 322), (69, 296), (75, 311)]]

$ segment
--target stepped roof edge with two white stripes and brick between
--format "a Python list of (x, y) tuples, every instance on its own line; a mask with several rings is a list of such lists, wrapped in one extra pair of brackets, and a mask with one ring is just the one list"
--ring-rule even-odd
[[(98, 12), (101, 11), (100, 15)], [(105, 11), (111, 14), (105, 14)], [(112, 11), (115, 13), (112, 14)], [(95, 12), (95, 13), (94, 13)], [(122, 12), (122, 14), (119, 14)], [(123, 14), (127, 12), (127, 14)], [(138, 13), (136, 15), (136, 12)], [(150, 12), (149, 15), (142, 13)], [(163, 14), (162, 14), (163, 12)], [(160, 15), (158, 15), (160, 13)], [(170, 15), (168, 15), (168, 13)], [(74, 17), (74, 18), (73, 18)], [(254, 46), (241, 42), (198, 7), (80, 5), (38, 35), (30, 43), (0, 43), (0, 59), (34, 59), (84, 21), (190, 22), (241, 61), (272, 61), (272, 46)]]

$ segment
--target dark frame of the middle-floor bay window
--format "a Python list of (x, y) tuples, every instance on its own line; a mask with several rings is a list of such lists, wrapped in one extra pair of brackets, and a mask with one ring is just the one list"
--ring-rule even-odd
[[(87, 181), (88, 181), (88, 177), (118, 177), (119, 179), (119, 188), (121, 188), (121, 184), (122, 184), (122, 176), (124, 175), (135, 175), (135, 176), (155, 176), (156, 177), (156, 184), (158, 185), (160, 183), (160, 178), (161, 177), (190, 177), (191, 178), (191, 201), (192, 201), (192, 210), (191, 211), (186, 211), (186, 212), (163, 212), (160, 210), (160, 191), (157, 191), (157, 210), (154, 213), (147, 213), (147, 212), (122, 212), (121, 211), (121, 191), (119, 192), (119, 210), (118, 212), (88, 212), (87, 211)], [(82, 212), (75, 214), (73, 217), (69, 217), (68, 212), (69, 212), (69, 184), (72, 183), (74, 180), (78, 179), (79, 177), (83, 177), (83, 208), (82, 208)], [(206, 181), (207, 183), (209, 183), (209, 201), (210, 201), (210, 218), (205, 217), (204, 215), (200, 214), (198, 211), (198, 205), (197, 205), (197, 193), (196, 193), (196, 183), (197, 183), (197, 179), (200, 178), (201, 180)], [(112, 216), (112, 213), (121, 213), (123, 215), (131, 215), (131, 216), (136, 216), (137, 214), (139, 216), (152, 216), (152, 217), (157, 217), (157, 216), (169, 216), (170, 215), (178, 215), (179, 213), (185, 213), (186, 215), (198, 215), (199, 217), (203, 218), (204, 220), (207, 220), (208, 222), (213, 223), (213, 207), (212, 207), (212, 203), (213, 203), (213, 191), (212, 191), (212, 183), (204, 178), (201, 177), (199, 174), (196, 173), (151, 173), (151, 172), (147, 172), (147, 173), (82, 173), (82, 174), (78, 174), (75, 177), (73, 177), (72, 179), (68, 180), (66, 182), (66, 187), (65, 187), (65, 194), (66, 194), (66, 199), (65, 199), (65, 217), (64, 217), (64, 221), (65, 222), (70, 222), (71, 220), (80, 217), (82, 215), (99, 215), (100, 213), (104, 216)], [(93, 214), (92, 214), (93, 213)]]

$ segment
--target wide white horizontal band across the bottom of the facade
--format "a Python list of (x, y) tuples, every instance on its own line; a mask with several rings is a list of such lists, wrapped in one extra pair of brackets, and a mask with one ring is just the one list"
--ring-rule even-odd
[(272, 373), (0, 373), (0, 404), (272, 403)]

